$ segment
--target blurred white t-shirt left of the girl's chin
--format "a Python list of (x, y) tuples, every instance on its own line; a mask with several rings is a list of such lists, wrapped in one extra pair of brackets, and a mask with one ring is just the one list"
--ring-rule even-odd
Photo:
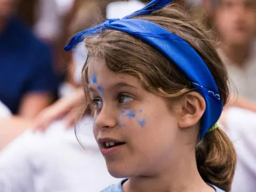
[(0, 191), (100, 191), (118, 182), (107, 171), (92, 122), (85, 117), (77, 125), (84, 130), (86, 149), (63, 121), (53, 123), (45, 134), (22, 133), (0, 153)]

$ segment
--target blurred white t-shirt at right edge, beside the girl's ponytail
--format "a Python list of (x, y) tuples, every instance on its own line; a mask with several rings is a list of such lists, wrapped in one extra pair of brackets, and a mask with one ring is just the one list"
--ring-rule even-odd
[(237, 167), (231, 192), (254, 192), (256, 189), (256, 113), (230, 108), (225, 129), (236, 149)]

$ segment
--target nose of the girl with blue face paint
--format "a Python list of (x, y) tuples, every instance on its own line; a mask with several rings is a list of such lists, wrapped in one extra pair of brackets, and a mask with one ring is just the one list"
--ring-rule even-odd
[(94, 125), (101, 130), (113, 128), (117, 125), (116, 109), (111, 105), (103, 105), (99, 113), (94, 116)]

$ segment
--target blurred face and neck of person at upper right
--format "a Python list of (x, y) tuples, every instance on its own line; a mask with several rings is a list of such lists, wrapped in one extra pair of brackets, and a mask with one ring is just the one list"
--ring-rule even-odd
[(214, 13), (214, 24), (222, 50), (239, 67), (250, 57), (256, 33), (254, 0), (221, 0)]

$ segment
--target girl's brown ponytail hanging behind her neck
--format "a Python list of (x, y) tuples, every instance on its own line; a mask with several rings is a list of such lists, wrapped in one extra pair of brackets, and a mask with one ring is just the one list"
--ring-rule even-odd
[(207, 183), (230, 191), (236, 167), (236, 152), (220, 128), (206, 133), (196, 147), (198, 171)]

